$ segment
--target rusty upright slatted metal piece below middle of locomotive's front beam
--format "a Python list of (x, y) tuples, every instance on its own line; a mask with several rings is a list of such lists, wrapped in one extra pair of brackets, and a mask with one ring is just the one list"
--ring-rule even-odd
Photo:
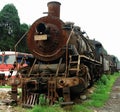
[(56, 81), (50, 80), (48, 81), (48, 99), (50, 105), (54, 104), (58, 95), (56, 92)]

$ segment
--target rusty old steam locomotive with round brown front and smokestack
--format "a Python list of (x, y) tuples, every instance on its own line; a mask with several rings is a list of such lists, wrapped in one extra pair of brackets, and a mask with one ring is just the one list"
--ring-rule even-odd
[(63, 22), (60, 5), (49, 2), (48, 15), (36, 20), (28, 31), (27, 44), (35, 60), (28, 71), (21, 70), (25, 78), (23, 103), (29, 102), (31, 96), (37, 99), (40, 94), (50, 104), (59, 97), (70, 102), (103, 73), (102, 46), (93, 44), (80, 27)]

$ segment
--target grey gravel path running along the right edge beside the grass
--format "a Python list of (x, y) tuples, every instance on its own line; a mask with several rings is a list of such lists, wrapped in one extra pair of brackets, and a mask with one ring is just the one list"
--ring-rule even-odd
[(120, 112), (120, 77), (115, 81), (104, 107), (95, 109), (94, 112)]

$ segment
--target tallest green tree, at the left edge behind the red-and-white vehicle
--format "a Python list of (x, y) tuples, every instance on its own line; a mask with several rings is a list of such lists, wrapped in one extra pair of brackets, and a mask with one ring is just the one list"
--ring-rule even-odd
[(0, 49), (14, 50), (20, 32), (18, 11), (13, 4), (7, 4), (0, 12)]

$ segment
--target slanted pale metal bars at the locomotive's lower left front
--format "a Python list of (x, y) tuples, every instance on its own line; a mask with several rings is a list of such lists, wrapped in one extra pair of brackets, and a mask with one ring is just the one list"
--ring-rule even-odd
[(32, 108), (35, 104), (37, 104), (38, 98), (39, 98), (38, 93), (31, 93), (31, 95), (29, 95), (29, 97), (27, 99), (27, 102), (24, 103), (22, 106)]

